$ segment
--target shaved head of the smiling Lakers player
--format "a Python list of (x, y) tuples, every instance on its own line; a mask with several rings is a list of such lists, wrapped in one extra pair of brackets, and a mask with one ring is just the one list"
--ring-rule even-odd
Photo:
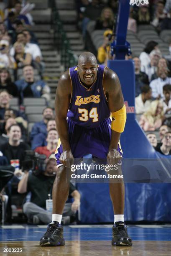
[(97, 79), (97, 59), (89, 51), (83, 52), (78, 59), (78, 74), (81, 82), (90, 87)]

